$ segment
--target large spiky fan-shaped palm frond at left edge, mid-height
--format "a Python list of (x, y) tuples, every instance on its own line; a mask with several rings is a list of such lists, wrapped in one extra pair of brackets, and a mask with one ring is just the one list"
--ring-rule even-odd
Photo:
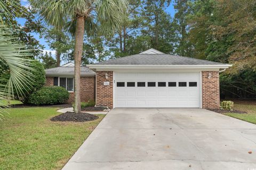
[[(0, 79), (0, 100), (12, 99), (14, 91), (20, 96), (24, 95), (21, 89), (30, 86), (31, 78), (34, 76), (30, 72), (33, 70), (30, 60), (23, 58), (31, 56), (30, 50), (25, 49), (25, 45), (9, 35), (8, 29), (0, 25), (0, 65), (7, 65), (10, 74), (9, 79)], [(0, 109), (1, 113), (3, 109)]]

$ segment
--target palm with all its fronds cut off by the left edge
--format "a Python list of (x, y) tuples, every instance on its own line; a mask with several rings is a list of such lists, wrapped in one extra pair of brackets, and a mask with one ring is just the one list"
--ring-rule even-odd
[[(11, 37), (11, 30), (6, 27), (12, 27), (12, 19), (19, 17), (22, 10), (19, 1), (0, 0), (0, 121), (3, 120), (4, 108), (9, 107), (10, 99), (14, 98), (14, 91), (18, 97), (24, 95), (22, 89), (30, 87), (34, 77), (30, 73), (34, 69), (31, 67), (30, 60), (24, 57), (30, 57), (32, 53), (25, 49), (26, 46), (17, 41), (16, 37)], [(3, 73), (7, 72), (4, 77)], [(7, 105), (5, 101), (7, 100)]]

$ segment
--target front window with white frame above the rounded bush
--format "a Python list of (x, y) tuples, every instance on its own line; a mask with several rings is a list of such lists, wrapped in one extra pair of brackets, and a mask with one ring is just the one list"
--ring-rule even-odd
[(60, 86), (68, 91), (74, 91), (74, 78), (54, 77), (53, 86)]

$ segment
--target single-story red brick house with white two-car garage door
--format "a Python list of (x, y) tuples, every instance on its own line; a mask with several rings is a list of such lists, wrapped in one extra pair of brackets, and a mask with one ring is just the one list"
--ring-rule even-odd
[[(164, 54), (140, 54), (81, 67), (81, 100), (96, 106), (219, 108), (219, 71), (231, 65)], [(46, 86), (62, 86), (74, 100), (74, 64), (46, 70)]]

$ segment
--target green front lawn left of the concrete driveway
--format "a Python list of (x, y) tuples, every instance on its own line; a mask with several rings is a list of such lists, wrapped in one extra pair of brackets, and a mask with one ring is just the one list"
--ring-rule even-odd
[(51, 122), (58, 108), (11, 108), (0, 122), (0, 169), (61, 169), (105, 115), (90, 122)]

